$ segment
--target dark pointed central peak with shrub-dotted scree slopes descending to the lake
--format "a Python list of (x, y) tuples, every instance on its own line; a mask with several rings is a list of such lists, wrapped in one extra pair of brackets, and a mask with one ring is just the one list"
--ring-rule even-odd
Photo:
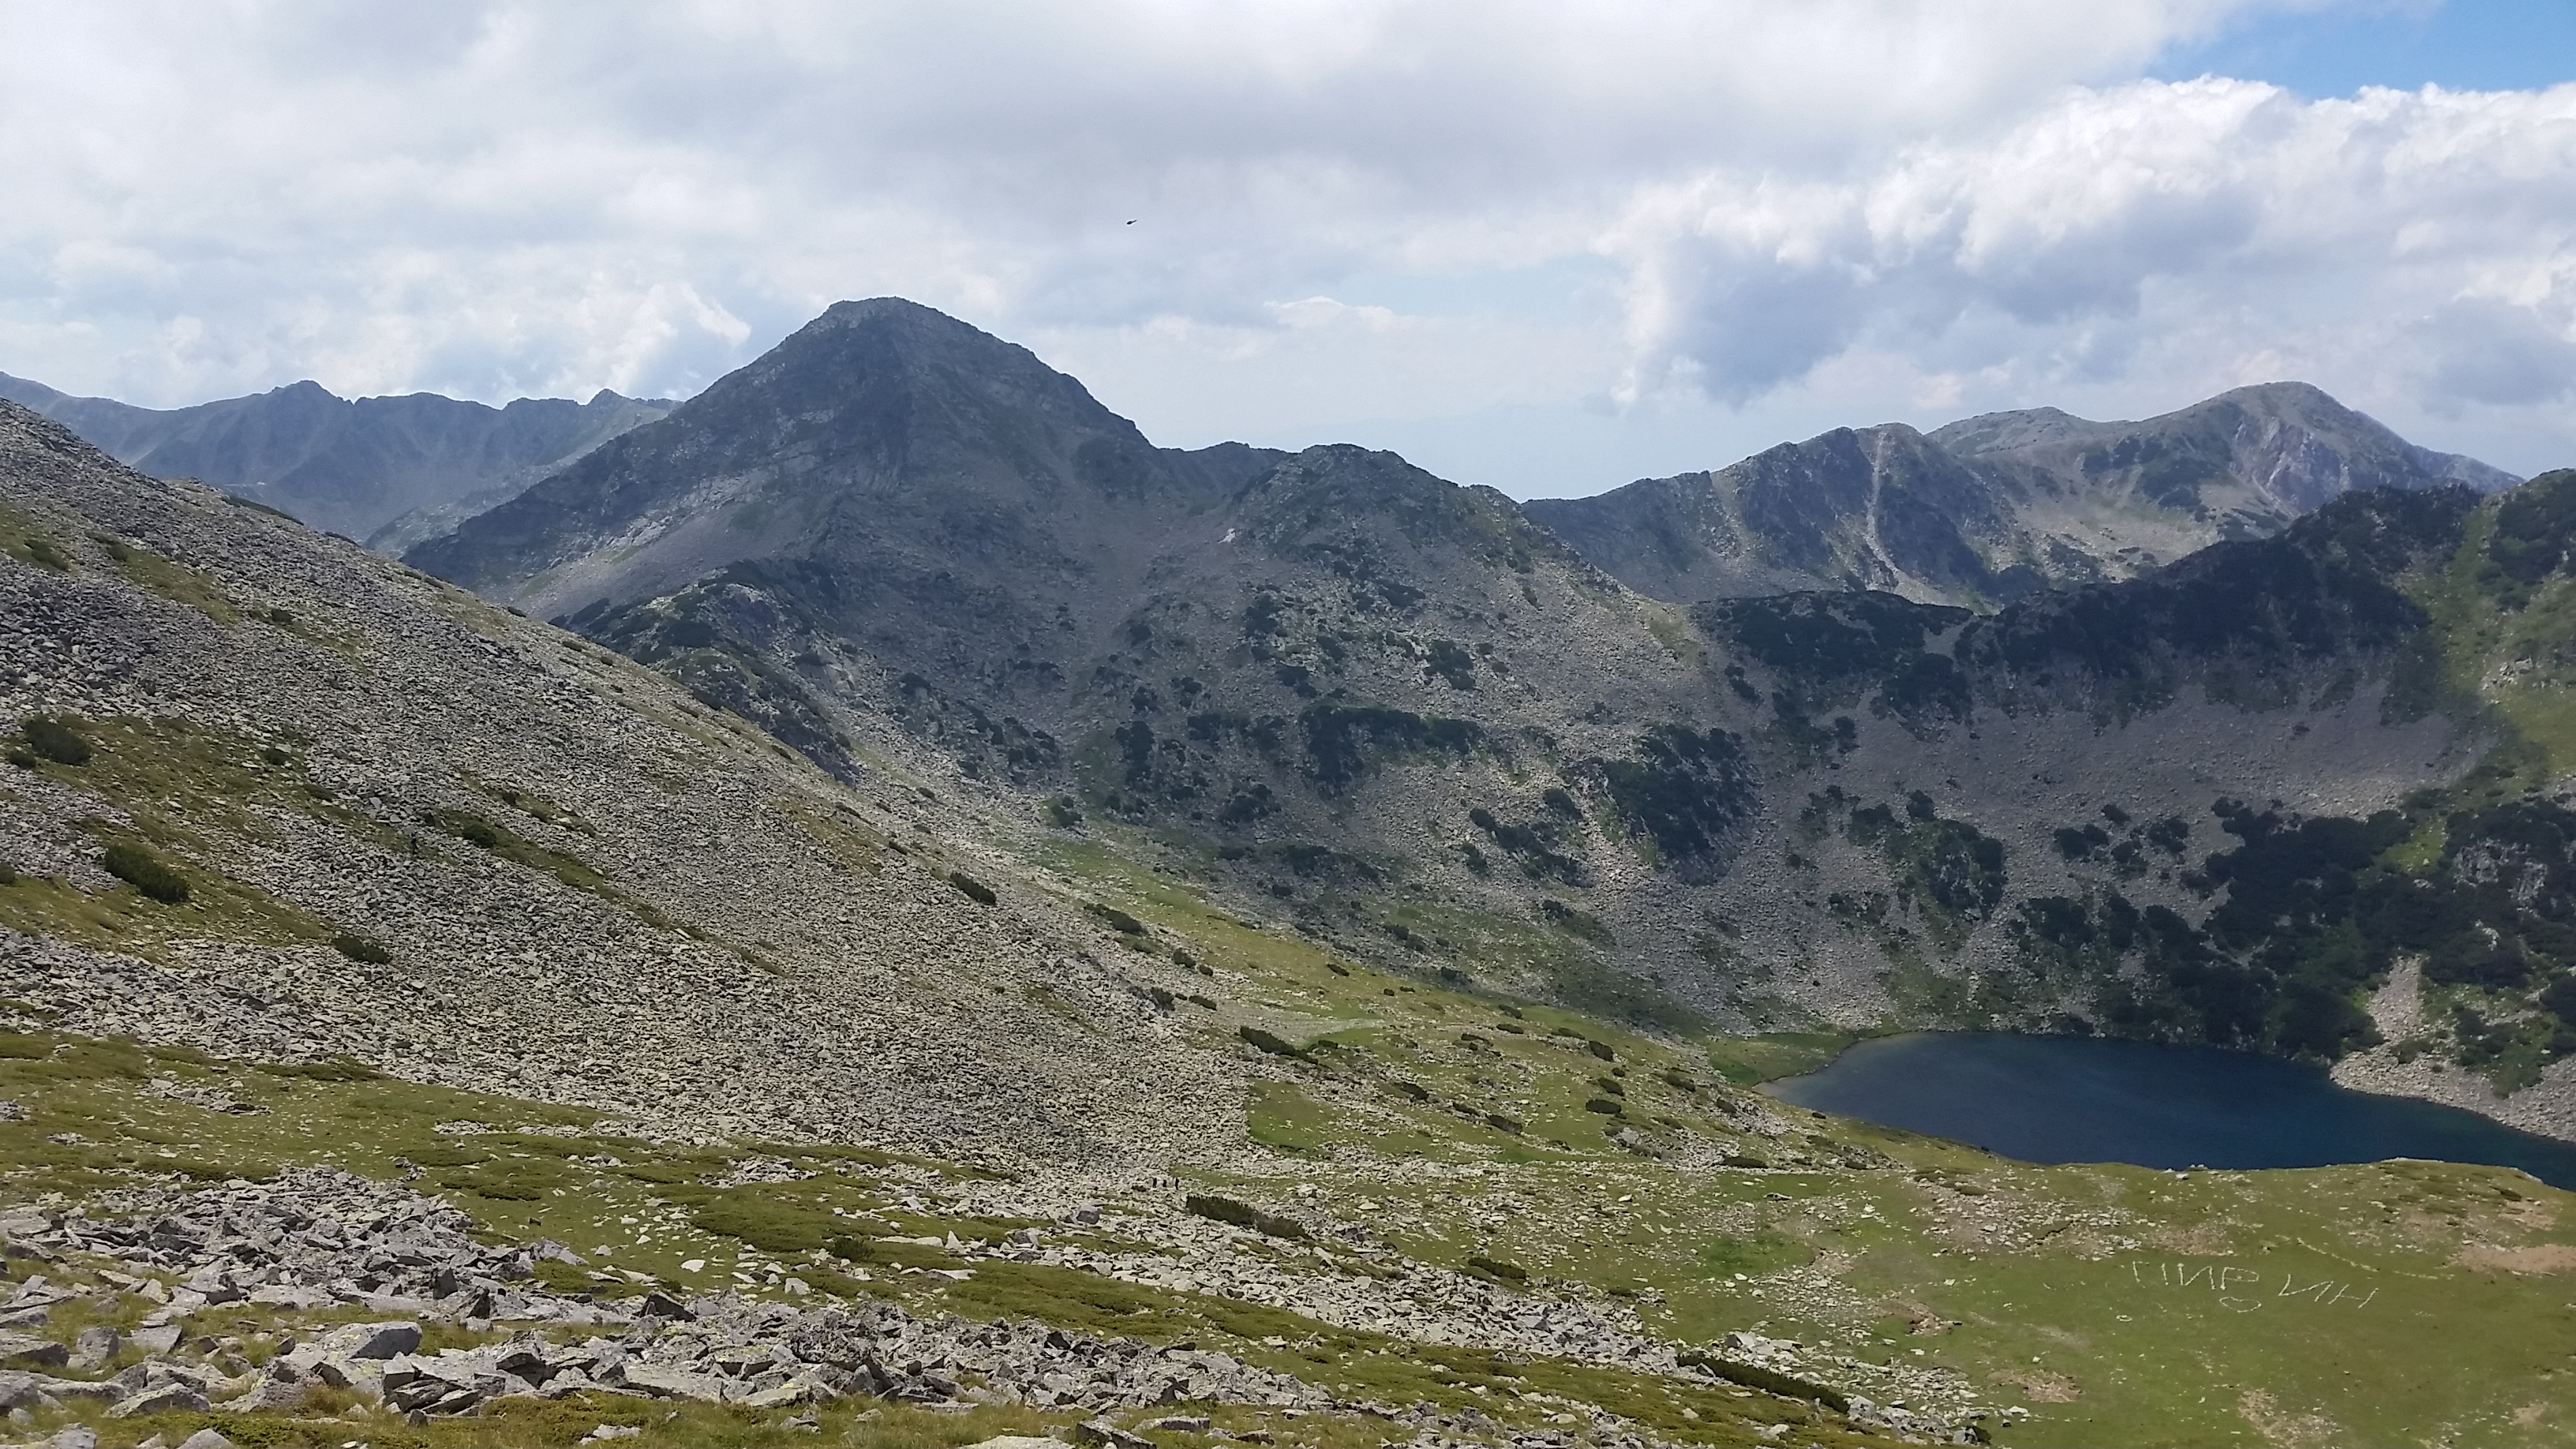
[[(2244, 441), (2311, 402), (2221, 400), (2154, 436)], [(2035, 449), (2038, 469), (2061, 428), (1978, 436), (1978, 456)], [(1973, 492), (1945, 449), (1899, 451), (1922, 490)], [(2282, 508), (2421, 462), (2352, 446), (2324, 480), (2298, 456), (2308, 472), (2262, 474)], [(2419, 598), (2491, 547), (2499, 505), (2468, 487), (2352, 492), (2277, 539), (1994, 616), (1891, 593), (1680, 611), (1386, 454), (1193, 462), (1007, 343), (845, 304), (412, 559), (845, 779), (866, 779), (858, 740), (909, 740), (997, 810), (1388, 964), (1667, 1024), (2092, 1029), (2324, 1060), (2385, 1036), (2517, 1093), (2483, 1109), (2576, 1132), (2566, 1018), (2543, 1000), (2576, 951), (2458, 895), (2486, 869), (2470, 841), (2522, 828), (2476, 815), (2501, 807), (2496, 781), (2555, 799), (2563, 768), (2532, 753), (2545, 722), (2501, 724), (2491, 686), (2434, 678), (2488, 647), (2437, 637)], [(2555, 565), (2517, 567), (2561, 588)], [(2499, 748), (2519, 763), (2465, 779)], [(2476, 820), (2445, 846), (2460, 810)], [(2308, 861), (2342, 830), (2326, 820), (2375, 846)], [(2334, 957), (2326, 918), (2264, 926), (2275, 866), (2458, 887), (2465, 915), (2380, 931), (2365, 913), (2365, 946)], [(2524, 962), (2494, 972), (2501, 995), (2445, 998), (2427, 1031), (2372, 1026), (2365, 995), (2398, 957), (2496, 931)]]

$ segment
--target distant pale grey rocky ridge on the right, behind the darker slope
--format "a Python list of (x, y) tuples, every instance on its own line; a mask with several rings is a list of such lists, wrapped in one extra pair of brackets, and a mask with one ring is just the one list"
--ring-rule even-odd
[(1932, 433), (1837, 428), (1528, 511), (1628, 588), (1677, 603), (1878, 588), (1991, 608), (2269, 536), (2360, 487), (2445, 482), (2494, 492), (2517, 480), (2280, 382), (2143, 423), (2043, 407)]

